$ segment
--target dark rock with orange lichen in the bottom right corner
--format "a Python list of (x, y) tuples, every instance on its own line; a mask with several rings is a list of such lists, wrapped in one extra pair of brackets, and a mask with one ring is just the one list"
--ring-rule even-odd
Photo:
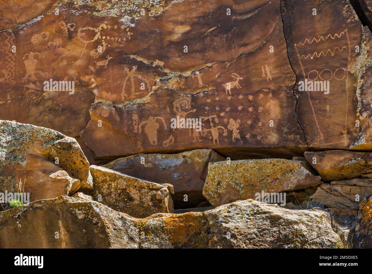
[(354, 248), (372, 248), (372, 197), (364, 198), (359, 204), (355, 226)]

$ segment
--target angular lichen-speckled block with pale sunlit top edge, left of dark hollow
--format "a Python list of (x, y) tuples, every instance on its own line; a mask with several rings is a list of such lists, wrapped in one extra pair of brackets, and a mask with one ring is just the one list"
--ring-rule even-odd
[(94, 200), (133, 217), (172, 213), (173, 187), (138, 179), (102, 166), (90, 166)]

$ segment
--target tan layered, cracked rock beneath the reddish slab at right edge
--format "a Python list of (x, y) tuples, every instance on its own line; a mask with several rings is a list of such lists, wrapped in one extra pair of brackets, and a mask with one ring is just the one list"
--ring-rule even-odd
[(372, 179), (357, 178), (323, 183), (311, 198), (327, 207), (357, 209), (359, 201), (370, 195)]

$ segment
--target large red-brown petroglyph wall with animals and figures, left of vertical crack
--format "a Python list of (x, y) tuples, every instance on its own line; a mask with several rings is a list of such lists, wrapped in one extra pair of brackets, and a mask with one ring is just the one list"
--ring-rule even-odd
[[(239, 159), (304, 152), (279, 0), (24, 7), (12, 4), (2, 23), (17, 24), (0, 34), (2, 119), (72, 136), (91, 162), (198, 148)], [(74, 93), (45, 91), (50, 79), (74, 81)], [(177, 117), (202, 119), (201, 131), (171, 128)]]

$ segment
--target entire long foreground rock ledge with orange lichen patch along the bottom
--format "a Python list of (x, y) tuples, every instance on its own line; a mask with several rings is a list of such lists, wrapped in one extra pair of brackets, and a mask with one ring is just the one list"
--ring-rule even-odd
[(135, 219), (96, 201), (61, 196), (0, 213), (0, 248), (330, 248), (338, 239), (323, 210), (254, 200)]

